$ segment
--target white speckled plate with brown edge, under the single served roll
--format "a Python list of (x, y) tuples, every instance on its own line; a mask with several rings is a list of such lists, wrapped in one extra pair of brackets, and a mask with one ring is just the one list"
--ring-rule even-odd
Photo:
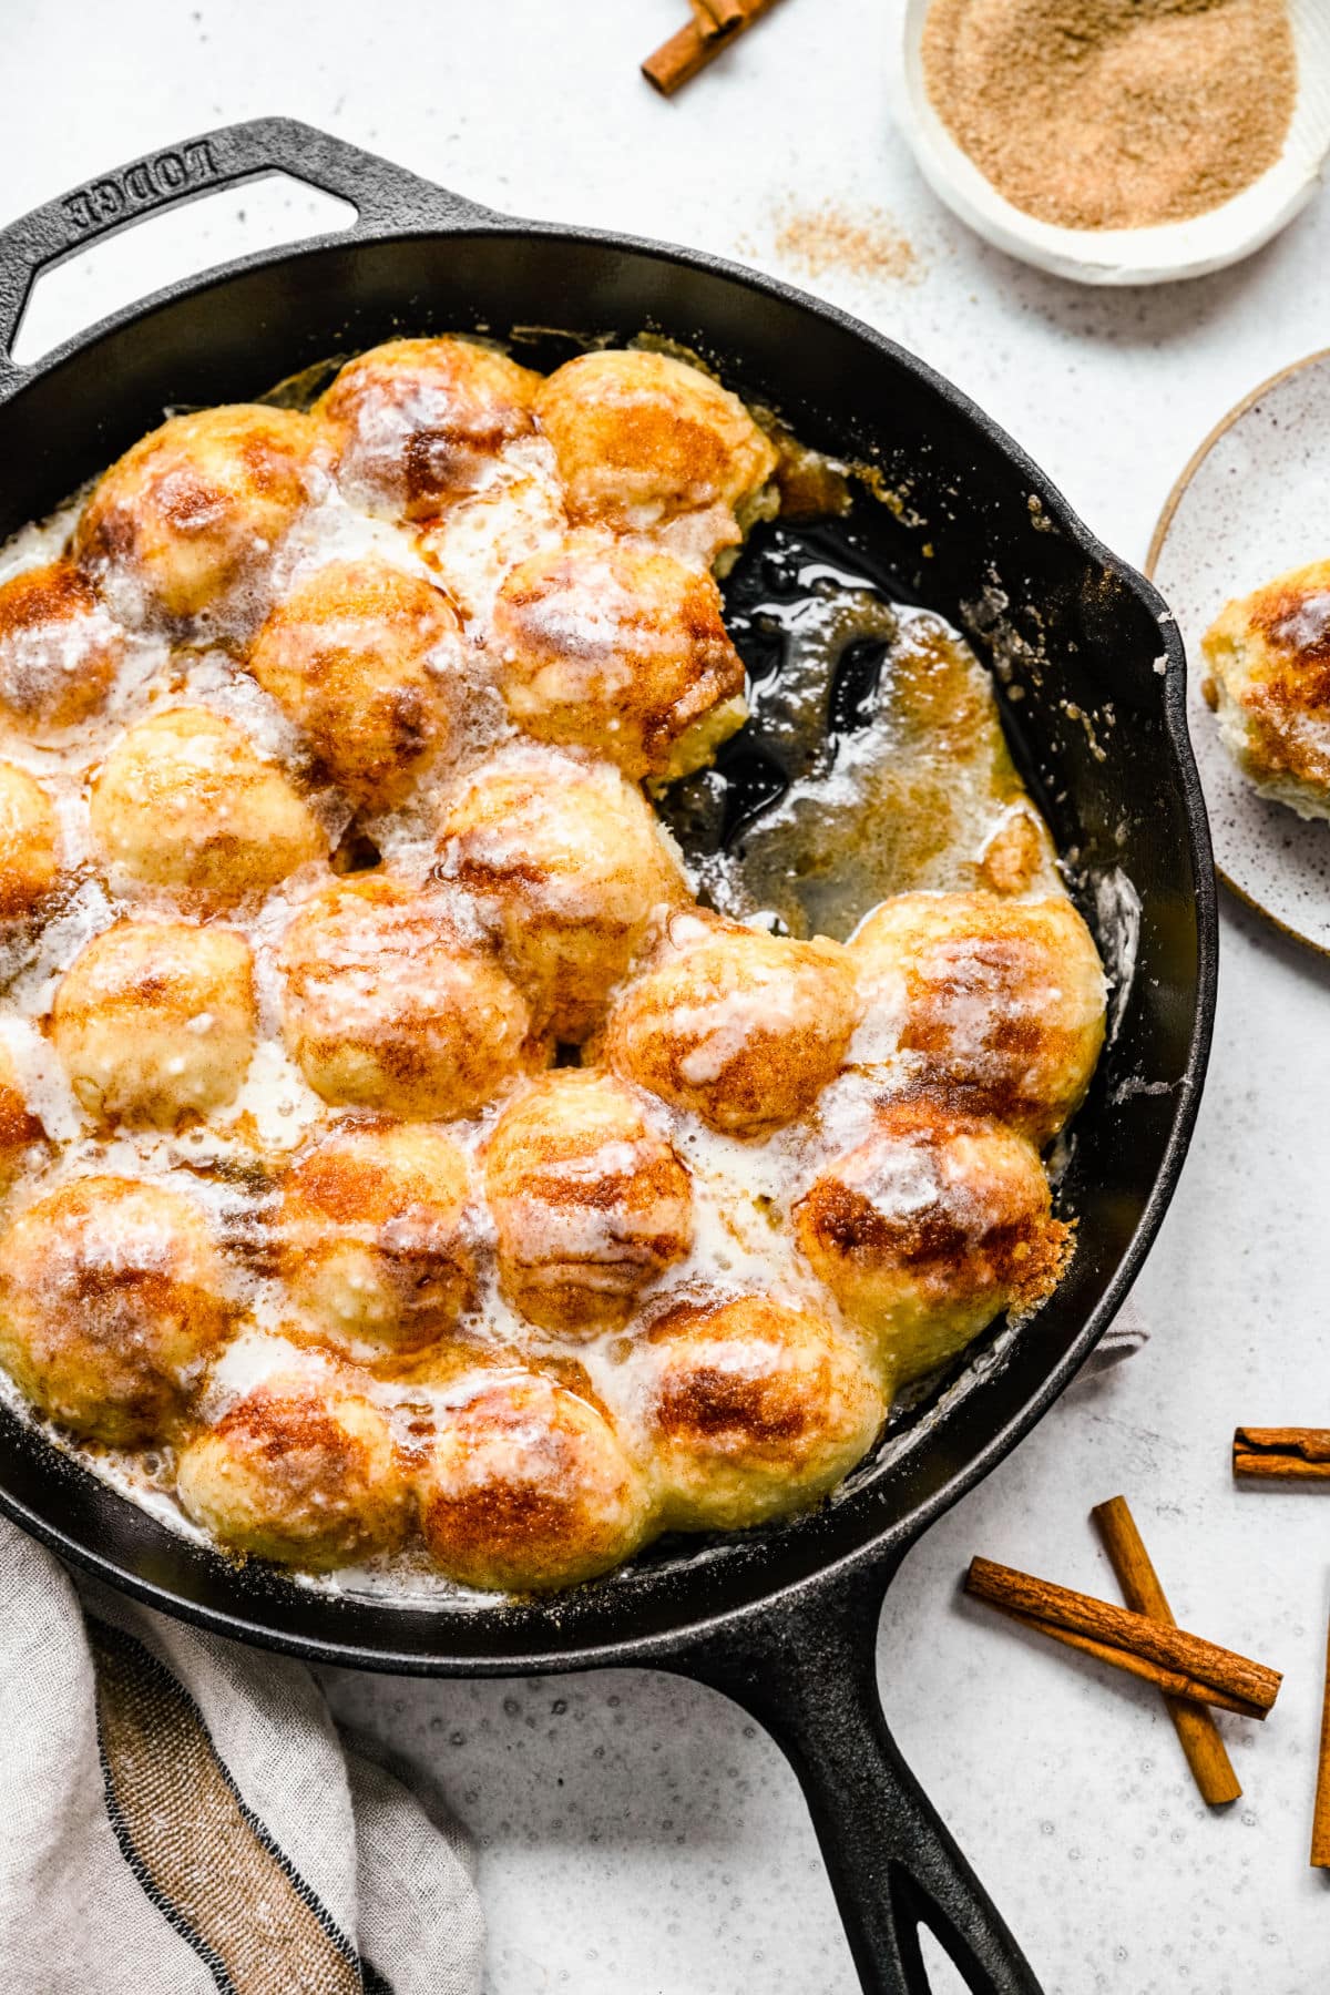
[(1330, 351), (1286, 367), (1218, 423), (1172, 487), (1145, 573), (1190, 664), (1186, 712), (1220, 878), (1330, 956), (1330, 822), (1306, 822), (1238, 776), (1200, 698), (1200, 636), (1230, 597), (1330, 559)]

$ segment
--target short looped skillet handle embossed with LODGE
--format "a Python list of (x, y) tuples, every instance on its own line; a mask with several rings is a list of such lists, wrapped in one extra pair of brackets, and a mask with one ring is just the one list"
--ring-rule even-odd
[(12, 347), (28, 293), (42, 269), (158, 209), (273, 172), (303, 180), (321, 194), (335, 194), (357, 209), (355, 225), (323, 237), (327, 241), (497, 219), (493, 209), (435, 188), (407, 168), (295, 118), (253, 118), (201, 132), (72, 188), (0, 229), (0, 393), (16, 387), (26, 373), (12, 359)]

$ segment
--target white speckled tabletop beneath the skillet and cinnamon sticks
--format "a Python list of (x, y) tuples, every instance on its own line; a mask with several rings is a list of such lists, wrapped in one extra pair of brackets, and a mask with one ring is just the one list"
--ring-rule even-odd
[[(682, 0), (10, 0), (2, 203), (229, 118), (285, 110), (497, 207), (774, 261), (776, 211), (889, 209), (913, 285), (822, 289), (953, 375), (1141, 559), (1210, 423), (1326, 343), (1330, 207), (1250, 263), (1178, 289), (1091, 293), (979, 245), (919, 184), (885, 116), (879, 0), (786, 0), (676, 104), (636, 60)], [(239, 247), (245, 192), (68, 271), (74, 323)], [(796, 281), (798, 271), (792, 271)], [(46, 311), (48, 331), (58, 327)], [(34, 315), (34, 327), (38, 317)], [(1310, 1995), (1328, 1901), (1306, 1867), (1328, 1606), (1316, 1494), (1234, 1492), (1236, 1420), (1330, 1422), (1330, 970), (1226, 910), (1200, 1133), (1141, 1285), (1149, 1351), (1073, 1391), (911, 1554), (883, 1624), (901, 1744), (1049, 1995)], [(1178, 1614), (1288, 1672), (1264, 1728), (1230, 1728), (1246, 1797), (1194, 1799), (1153, 1698), (963, 1608), (969, 1552), (1111, 1586), (1085, 1512), (1125, 1490)], [(851, 1995), (794, 1778), (708, 1692), (618, 1674), (534, 1684), (341, 1680), (343, 1712), (431, 1760), (483, 1839), (491, 1995)], [(951, 1987), (941, 1981), (939, 1989)]]

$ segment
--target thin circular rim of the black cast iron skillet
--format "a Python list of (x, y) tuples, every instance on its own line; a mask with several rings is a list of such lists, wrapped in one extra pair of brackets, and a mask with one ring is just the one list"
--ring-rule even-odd
[[(307, 130), (307, 128), (295, 128)], [(38, 1538), (42, 1544), (58, 1552), (64, 1560), (78, 1566), (80, 1570), (104, 1580), (114, 1590), (128, 1594), (152, 1606), (164, 1614), (177, 1620), (185, 1620), (197, 1628), (211, 1634), (221, 1634), (233, 1640), (247, 1642), (251, 1646), (275, 1650), (279, 1654), (299, 1656), (307, 1662), (331, 1664), (339, 1668), (361, 1668), (375, 1672), (389, 1672), (401, 1676), (520, 1676), (520, 1674), (548, 1674), (564, 1670), (584, 1670), (584, 1668), (604, 1668), (604, 1666), (660, 1666), (678, 1658), (686, 1650), (696, 1648), (700, 1642), (714, 1636), (724, 1636), (726, 1630), (734, 1630), (746, 1622), (752, 1622), (772, 1610), (778, 1610), (782, 1602), (794, 1600), (798, 1596), (810, 1596), (812, 1592), (833, 1588), (843, 1576), (851, 1572), (863, 1572), (867, 1568), (881, 1568), (889, 1574), (895, 1564), (903, 1558), (909, 1546), (933, 1524), (951, 1504), (975, 1488), (989, 1472), (1003, 1460), (1017, 1442), (1037, 1424), (1039, 1418), (1049, 1410), (1049, 1406), (1061, 1396), (1061, 1393), (1071, 1385), (1073, 1377), (1099, 1343), (1109, 1323), (1123, 1305), (1129, 1289), (1133, 1287), (1141, 1267), (1149, 1255), (1149, 1249), (1159, 1233), (1164, 1211), (1172, 1199), (1172, 1193), (1182, 1171), (1182, 1163), (1190, 1145), (1190, 1137), (1196, 1123), (1196, 1113), (1200, 1105), (1200, 1089), (1204, 1081), (1204, 1069), (1210, 1051), (1212, 1025), (1214, 1025), (1214, 1001), (1216, 1001), (1216, 978), (1218, 978), (1218, 894), (1214, 880), (1214, 862), (1208, 836), (1208, 820), (1204, 810), (1204, 798), (1200, 790), (1200, 778), (1196, 772), (1196, 762), (1190, 748), (1190, 736), (1186, 730), (1186, 658), (1180, 634), (1172, 620), (1172, 614), (1159, 595), (1155, 585), (1147, 581), (1137, 569), (1127, 561), (1117, 557), (1107, 549), (1097, 535), (1081, 521), (1073, 511), (1069, 501), (1063, 497), (1057, 485), (1041, 471), (1041, 467), (1025, 453), (1025, 449), (977, 403), (965, 395), (963, 389), (955, 387), (945, 375), (937, 373), (927, 361), (919, 359), (907, 347), (897, 345), (889, 335), (879, 333), (875, 327), (855, 319), (851, 313), (843, 311), (839, 305), (828, 303), (824, 299), (812, 297), (810, 293), (784, 283), (778, 277), (770, 277), (764, 271), (752, 271), (742, 263), (734, 263), (728, 257), (712, 255), (710, 251), (686, 249), (674, 243), (660, 243), (648, 237), (636, 237), (626, 233), (616, 233), (610, 229), (584, 229), (584, 227), (564, 227), (556, 221), (524, 221), (520, 217), (497, 215), (477, 203), (467, 201), (459, 196), (449, 196), (433, 184), (415, 180), (389, 162), (379, 162), (373, 156), (363, 156), (373, 166), (385, 170), (409, 190), (403, 194), (403, 205), (419, 209), (421, 201), (437, 201), (439, 213), (435, 219), (413, 219), (405, 227), (389, 219), (361, 221), (359, 225), (317, 235), (297, 245), (277, 245), (275, 249), (255, 251), (251, 255), (235, 257), (227, 263), (215, 265), (195, 277), (177, 279), (150, 297), (140, 299), (116, 313), (98, 319), (94, 325), (86, 327), (82, 333), (72, 335), (60, 345), (52, 347), (32, 365), (0, 363), (0, 421), (4, 419), (6, 405), (20, 399), (24, 389), (52, 373), (54, 369), (72, 363), (88, 363), (92, 351), (102, 339), (126, 331), (136, 325), (144, 325), (158, 311), (185, 297), (203, 297), (213, 289), (229, 285), (237, 277), (249, 273), (275, 269), (279, 265), (297, 265), (305, 257), (321, 255), (329, 249), (341, 249), (343, 253), (355, 253), (361, 247), (379, 243), (409, 243), (421, 239), (441, 239), (457, 241), (471, 237), (500, 237), (500, 239), (530, 239), (544, 237), (564, 243), (568, 247), (586, 247), (610, 253), (626, 253), (648, 257), (658, 263), (678, 265), (704, 273), (708, 277), (720, 277), (726, 283), (736, 285), (740, 291), (758, 297), (780, 299), (786, 305), (794, 305), (798, 311), (830, 323), (841, 333), (851, 335), (861, 345), (871, 351), (873, 363), (887, 361), (901, 369), (905, 375), (915, 377), (921, 387), (929, 389), (941, 401), (945, 401), (955, 415), (975, 427), (983, 439), (997, 449), (997, 453), (1011, 465), (1013, 473), (1021, 477), (1031, 491), (1039, 497), (1043, 511), (1049, 521), (1055, 523), (1061, 533), (1071, 539), (1077, 551), (1099, 569), (1115, 575), (1121, 585), (1137, 598), (1137, 602), (1149, 612), (1161, 634), (1161, 652), (1166, 658), (1166, 668), (1161, 674), (1161, 702), (1163, 702), (1163, 726), (1168, 756), (1172, 762), (1172, 772), (1178, 782), (1178, 796), (1182, 812), (1186, 818), (1188, 844), (1186, 858), (1190, 862), (1192, 874), (1192, 898), (1196, 914), (1196, 980), (1194, 980), (1194, 999), (1192, 999), (1192, 1019), (1190, 1019), (1190, 1043), (1188, 1057), (1182, 1075), (1178, 1077), (1172, 1121), (1168, 1129), (1168, 1139), (1164, 1145), (1163, 1159), (1155, 1173), (1151, 1193), (1145, 1201), (1141, 1219), (1137, 1221), (1127, 1247), (1123, 1249), (1113, 1275), (1109, 1277), (1103, 1295), (1095, 1307), (1085, 1317), (1081, 1331), (1075, 1335), (1067, 1351), (1057, 1359), (1041, 1377), (1041, 1383), (1031, 1391), (1031, 1395), (1021, 1402), (1021, 1406), (1005, 1418), (995, 1432), (989, 1434), (965, 1460), (927, 1496), (915, 1500), (901, 1516), (887, 1522), (881, 1528), (873, 1528), (871, 1514), (863, 1518), (863, 1530), (859, 1540), (843, 1550), (839, 1556), (831, 1556), (814, 1564), (808, 1572), (788, 1578), (776, 1574), (770, 1584), (748, 1592), (740, 1602), (730, 1602), (720, 1610), (702, 1610), (698, 1614), (688, 1614), (686, 1610), (670, 1620), (670, 1626), (660, 1628), (652, 1634), (618, 1634), (612, 1640), (588, 1642), (580, 1646), (552, 1646), (538, 1648), (528, 1646), (514, 1650), (510, 1654), (457, 1654), (457, 1652), (403, 1652), (395, 1650), (391, 1642), (363, 1646), (359, 1642), (329, 1638), (313, 1638), (305, 1634), (289, 1634), (285, 1630), (273, 1630), (261, 1620), (251, 1620), (247, 1614), (237, 1614), (233, 1610), (223, 1610), (207, 1606), (195, 1600), (181, 1598), (169, 1586), (146, 1580), (136, 1572), (126, 1572), (110, 1556), (92, 1550), (88, 1544), (72, 1538), (60, 1526), (50, 1524), (46, 1518), (38, 1516), (26, 1502), (12, 1496), (10, 1490), (0, 1480), (0, 1512), (8, 1514), (26, 1532)], [(269, 164), (255, 166), (253, 176), (271, 172)], [(285, 172), (293, 172), (285, 168)], [(301, 178), (301, 176), (295, 176)], [(309, 180), (309, 186), (319, 186), (317, 178)], [(42, 213), (40, 209), (36, 211)], [(20, 217), (16, 225), (32, 221), (34, 217)], [(6, 233), (0, 231), (0, 257), (6, 247)], [(812, 399), (812, 397), (810, 397)], [(46, 1446), (58, 1452), (50, 1442)], [(66, 1458), (68, 1460), (68, 1458)], [(88, 1470), (80, 1470), (88, 1474)], [(0, 1462), (0, 1478), (4, 1476), (4, 1464)], [(871, 1498), (871, 1492), (863, 1492)], [(128, 1498), (120, 1498), (128, 1502)], [(158, 1526), (166, 1528), (166, 1526)], [(720, 1556), (734, 1548), (736, 1554), (748, 1550), (756, 1556), (758, 1564), (772, 1562), (772, 1550), (780, 1546), (786, 1532), (776, 1528), (764, 1540), (746, 1538), (736, 1534), (730, 1546), (722, 1546)], [(225, 1584), (229, 1576), (225, 1570), (225, 1560), (213, 1554), (219, 1566), (217, 1580)], [(275, 1582), (279, 1586), (289, 1586), (291, 1582)], [(600, 1584), (612, 1584), (600, 1582)], [(313, 1608), (315, 1602), (327, 1604), (329, 1622), (335, 1622), (337, 1608), (341, 1602), (337, 1596), (319, 1596), (315, 1592), (303, 1592), (303, 1602)], [(546, 1602), (524, 1604), (522, 1622), (526, 1624), (530, 1614), (544, 1614), (550, 1622), (550, 1632), (556, 1636), (558, 1630), (558, 1600), (566, 1596), (550, 1596)], [(377, 1602), (375, 1602), (377, 1606)], [(626, 1622), (632, 1620), (634, 1602), (626, 1602)], [(431, 1612), (421, 1608), (395, 1608), (391, 1602), (383, 1602), (391, 1622), (399, 1614), (411, 1616), (413, 1626), (433, 1624), (433, 1630), (447, 1636), (449, 1612)], [(502, 1606), (497, 1610), (483, 1608), (477, 1612), (481, 1616), (491, 1616), (491, 1620), (502, 1620)], [(467, 1614), (471, 1620), (471, 1614)]]

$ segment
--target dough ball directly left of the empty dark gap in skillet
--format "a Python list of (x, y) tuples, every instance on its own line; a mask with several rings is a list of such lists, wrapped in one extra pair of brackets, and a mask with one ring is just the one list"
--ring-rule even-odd
[(686, 776), (742, 724), (744, 662), (710, 575), (596, 531), (512, 569), (491, 644), (508, 712), (628, 776)]

